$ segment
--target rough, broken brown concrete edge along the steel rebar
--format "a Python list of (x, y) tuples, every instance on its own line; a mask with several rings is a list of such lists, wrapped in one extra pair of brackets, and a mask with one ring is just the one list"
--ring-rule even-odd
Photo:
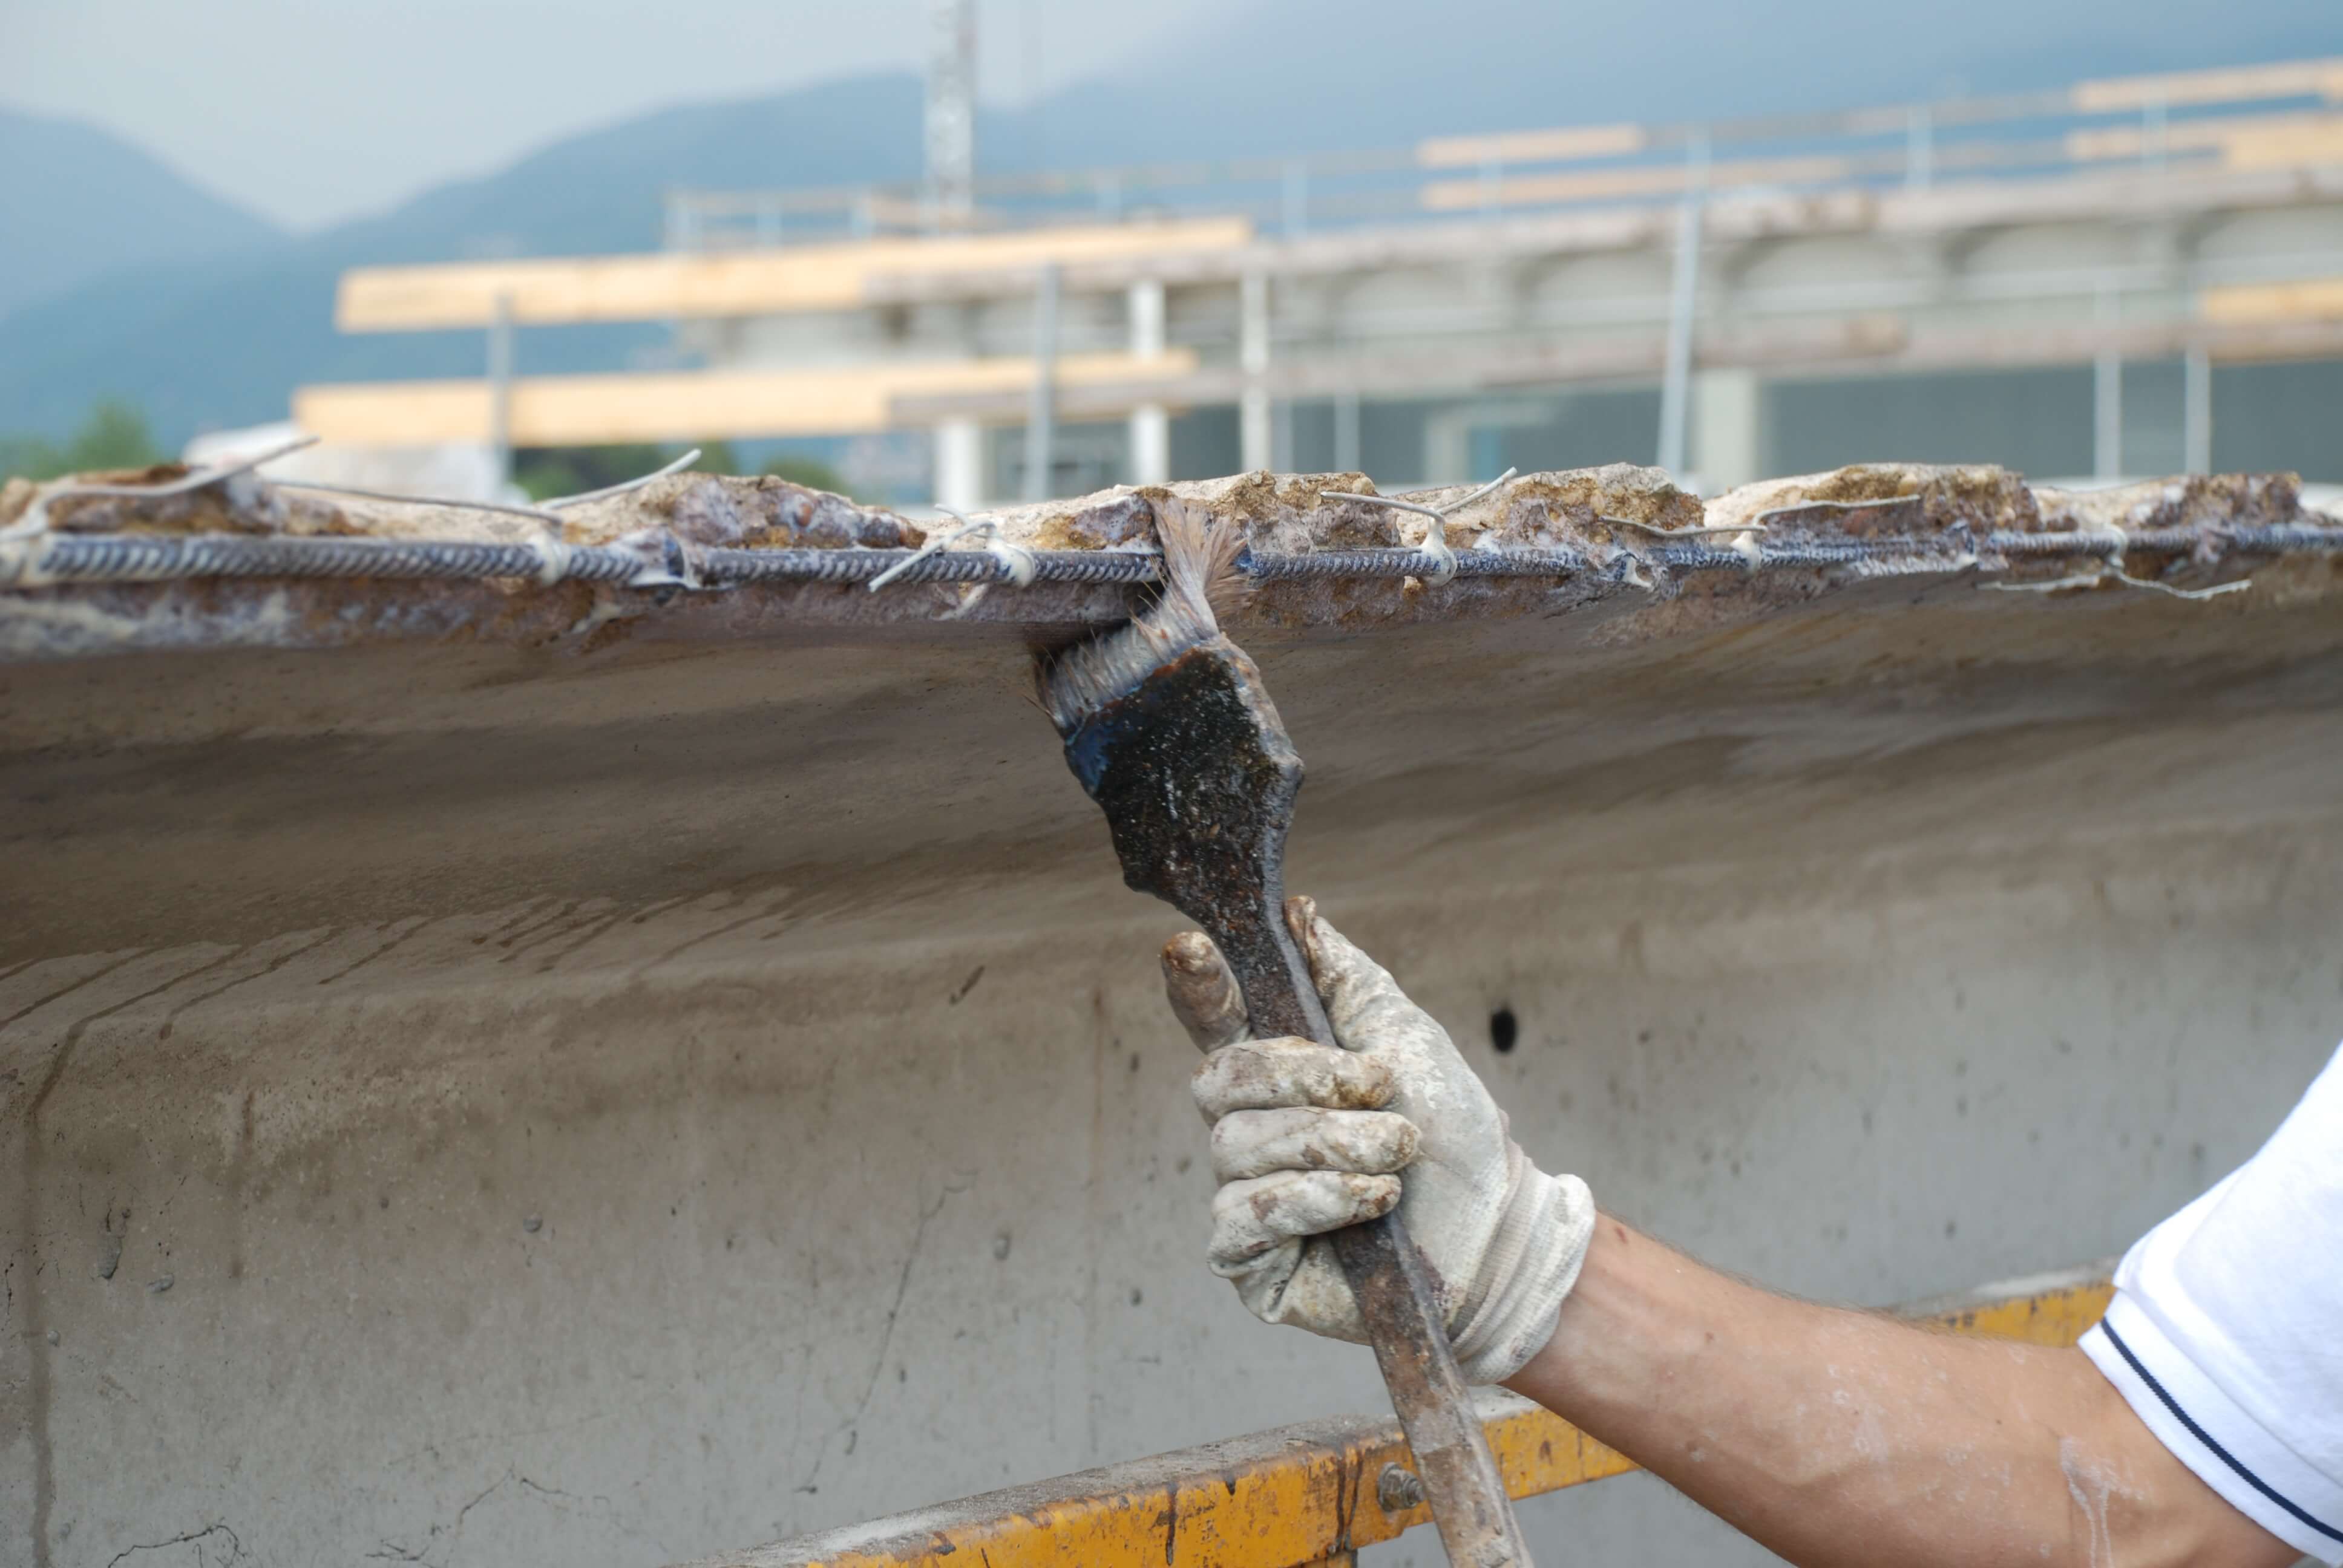
[[(178, 464), (134, 473), (80, 476), (101, 483), (169, 483)], [(1303, 555), (1338, 548), (1406, 548), (1429, 523), (1368, 502), (1328, 499), (1328, 490), (1373, 495), (1364, 473), (1237, 473), (1153, 488), (1115, 488), (1066, 502), (982, 513), (1000, 534), (1043, 551), (1146, 551), (1155, 502), (1179, 497), (1246, 530), (1256, 551)], [(1446, 506), (1471, 488), (1408, 492)], [(358, 502), (293, 492), (253, 476), (169, 497), (87, 497), (28, 480), (0, 488), (0, 530), (47, 499), (47, 520), (68, 534), (244, 534), (515, 541), (539, 525), (527, 518), (419, 502)], [(879, 551), (925, 541), (925, 530), (888, 509), (780, 478), (677, 473), (621, 497), (565, 513), (569, 544), (621, 546), (658, 558), (670, 544), (708, 548)], [(1741, 612), (1802, 602), (1863, 577), (1947, 577), (1966, 570), (2010, 581), (2069, 577), (2052, 553), (2010, 563), (1985, 541), (1992, 534), (2076, 534), (2104, 541), (2123, 530), (2198, 530), (2205, 548), (2188, 555), (2134, 555), (2127, 572), (2209, 584), (2266, 570), (2268, 558), (2219, 548), (2226, 530), (2331, 525), (2306, 511), (2294, 476), (2188, 476), (2116, 490), (2059, 492), (2027, 485), (1994, 466), (1858, 464), (1832, 473), (1743, 485), (1710, 502), (1678, 490), (1659, 469), (1610, 464), (1525, 473), (1500, 492), (1460, 506), (1448, 541), (1471, 551), (1574, 551), (1598, 570), (1556, 579), (1310, 579), (1265, 584), (1246, 612), (1256, 626), (1373, 628), (1516, 614), (1558, 614), (1596, 600), (1668, 600), (1687, 579), (1703, 579), (1708, 600)], [(1671, 574), (1652, 563), (1666, 541), (1708, 532), (1720, 546), (1767, 541), (1910, 539), (1933, 548), (1872, 555), (1856, 565), (1769, 570), (1731, 567)], [(979, 539), (954, 548), (984, 548)], [(2334, 572), (2317, 574), (2317, 591)], [(633, 635), (745, 640), (820, 628), (832, 635), (890, 640), (918, 626), (1012, 628), (1057, 640), (1122, 619), (1132, 588), (1038, 584), (975, 591), (942, 584), (867, 593), (846, 584), (759, 584), (677, 591), (579, 581), (389, 581), (389, 579), (194, 579), (171, 584), (56, 584), (0, 588), (0, 661), (82, 659), (136, 649), (192, 647), (347, 647), (361, 642), (499, 642), (593, 652)], [(1729, 609), (1713, 605), (1713, 609)], [(1706, 619), (1706, 616), (1703, 616)], [(1668, 623), (1661, 619), (1652, 633)]]

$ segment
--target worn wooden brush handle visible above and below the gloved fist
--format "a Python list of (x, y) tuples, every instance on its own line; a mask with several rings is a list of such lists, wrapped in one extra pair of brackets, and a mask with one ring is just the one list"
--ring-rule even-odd
[[(1221, 945), (1256, 1036), (1291, 1034), (1321, 1045), (1340, 1045), (1319, 1005), (1293, 933), (1286, 930), (1279, 891), (1265, 888), (1258, 909), (1218, 909), (1209, 935)], [(1457, 1371), (1441, 1324), (1422, 1254), (1396, 1214), (1336, 1230), (1333, 1254), (1343, 1263), (1382, 1385), (1415, 1451), (1415, 1474), (1432, 1502), (1441, 1547), (1455, 1568), (1530, 1568), (1530, 1549), (1504, 1493), (1497, 1458), (1471, 1406), (1471, 1390)]]

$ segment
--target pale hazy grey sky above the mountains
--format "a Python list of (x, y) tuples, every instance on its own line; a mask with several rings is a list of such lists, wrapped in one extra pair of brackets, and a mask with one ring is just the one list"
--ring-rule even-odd
[[(979, 0), (1024, 103), (1232, 0)], [(923, 0), (0, 0), (0, 103), (101, 124), (295, 227), (642, 110), (925, 54)]]

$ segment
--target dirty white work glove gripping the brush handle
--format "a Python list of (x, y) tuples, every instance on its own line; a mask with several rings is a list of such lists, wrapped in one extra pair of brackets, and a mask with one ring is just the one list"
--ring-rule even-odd
[(1340, 1048), (1256, 1041), (1202, 933), (1164, 947), (1164, 989), (1207, 1050), (1195, 1104), (1211, 1123), (1211, 1270), (1263, 1322), (1366, 1341), (1326, 1230), (1394, 1205), (1429, 1266), (1457, 1364), (1502, 1383), (1553, 1338), (1596, 1207), (1507, 1137), (1504, 1113), (1429, 1013), (1307, 898), (1286, 923)]

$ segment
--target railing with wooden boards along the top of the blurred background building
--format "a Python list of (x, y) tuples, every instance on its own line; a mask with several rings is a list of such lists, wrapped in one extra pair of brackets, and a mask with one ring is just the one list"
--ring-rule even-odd
[(1497, 218), (1692, 192), (1907, 190), (2090, 169), (2343, 162), (2343, 59), (2078, 82), (1813, 115), (1441, 136), (1410, 148), (998, 173), (956, 211), (918, 185), (675, 190), (665, 244), (722, 251), (947, 230), (1246, 216), (1263, 232)]

